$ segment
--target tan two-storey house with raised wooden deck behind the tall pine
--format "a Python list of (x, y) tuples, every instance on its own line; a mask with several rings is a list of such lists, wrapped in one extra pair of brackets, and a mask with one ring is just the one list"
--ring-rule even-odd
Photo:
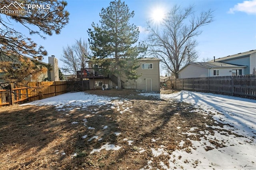
[[(140, 58), (137, 74), (138, 79), (129, 80), (121, 76), (121, 86), (123, 89), (137, 89), (142, 91), (160, 91), (160, 59)], [(116, 75), (103, 75), (100, 65), (88, 62), (89, 68), (84, 69), (83, 78), (89, 79), (90, 89), (105, 89), (117, 87)], [(102, 68), (103, 69), (103, 68)], [(115, 69), (115, 68), (110, 68)], [(77, 71), (77, 78), (81, 78), (81, 71)]]

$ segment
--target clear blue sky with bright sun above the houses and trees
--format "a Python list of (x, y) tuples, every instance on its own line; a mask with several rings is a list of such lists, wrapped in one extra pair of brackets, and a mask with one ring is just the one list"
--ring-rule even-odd
[[(32, 36), (38, 45), (60, 59), (62, 48), (72, 45), (80, 38), (88, 40), (87, 30), (92, 22), (99, 23), (99, 13), (109, 6), (109, 0), (67, 0), (70, 21), (59, 35), (47, 36), (46, 40)], [(141, 30), (139, 41), (146, 38), (146, 21), (150, 20), (154, 9), (162, 8), (168, 12), (174, 4), (184, 7), (194, 4), (195, 11), (214, 10), (214, 22), (202, 27), (202, 34), (196, 37), (198, 61), (202, 58), (225, 57), (240, 52), (256, 49), (256, 0), (126, 0), (125, 3), (134, 11), (130, 20)], [(48, 63), (48, 57), (44, 57)], [(59, 67), (62, 62), (59, 60)]]

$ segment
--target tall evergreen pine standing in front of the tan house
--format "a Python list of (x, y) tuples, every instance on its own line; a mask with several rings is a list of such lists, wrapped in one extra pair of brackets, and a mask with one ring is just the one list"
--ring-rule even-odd
[(100, 17), (100, 25), (92, 23), (94, 30), (88, 29), (90, 49), (94, 55), (92, 59), (103, 67), (110, 64), (116, 67), (112, 73), (117, 75), (118, 90), (121, 90), (122, 75), (128, 79), (140, 76), (136, 73), (139, 67), (137, 58), (146, 51), (146, 47), (141, 43), (134, 45), (138, 41), (139, 30), (129, 23), (134, 11), (129, 12), (124, 2), (110, 2), (109, 7), (102, 8)]

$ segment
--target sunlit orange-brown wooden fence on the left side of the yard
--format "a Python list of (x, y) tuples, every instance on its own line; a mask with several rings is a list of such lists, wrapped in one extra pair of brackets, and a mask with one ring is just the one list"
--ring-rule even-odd
[(5, 89), (0, 87), (0, 106), (60, 95), (66, 89), (66, 81), (29, 82), (27, 86), (5, 84)]

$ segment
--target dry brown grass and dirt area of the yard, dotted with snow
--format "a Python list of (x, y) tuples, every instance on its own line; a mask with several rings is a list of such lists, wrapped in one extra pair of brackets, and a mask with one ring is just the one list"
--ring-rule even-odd
[[(168, 165), (170, 155), (157, 155), (153, 150), (191, 152), (196, 148), (191, 148), (190, 140), (200, 140), (200, 131), (214, 134), (216, 130), (210, 127), (217, 125), (211, 113), (193, 111), (195, 108), (188, 103), (142, 96), (134, 90), (86, 93), (120, 97), (113, 102), (126, 100), (115, 106), (90, 106), (69, 112), (52, 106), (1, 108), (0, 169), (134, 170), (149, 168), (148, 161), (161, 169), (160, 162)], [(195, 134), (186, 133), (189, 130)], [(216, 148), (225, 147), (221, 141), (210, 141)], [(110, 144), (120, 149), (93, 152)], [(205, 149), (214, 148), (205, 144)]]

